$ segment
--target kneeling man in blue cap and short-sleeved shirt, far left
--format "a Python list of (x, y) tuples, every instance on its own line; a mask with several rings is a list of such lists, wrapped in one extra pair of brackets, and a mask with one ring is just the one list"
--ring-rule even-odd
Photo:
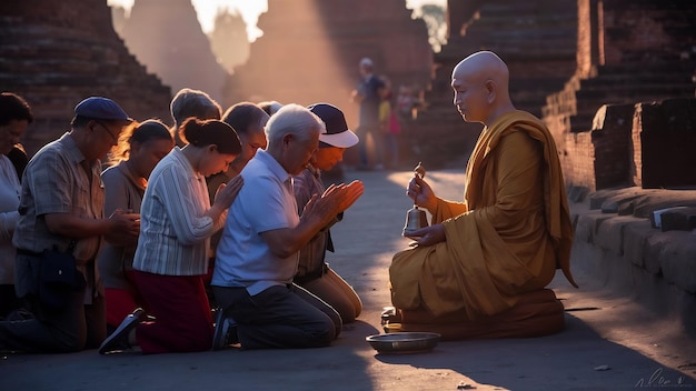
[[(71, 130), (27, 166), (12, 243), (16, 290), (33, 318), (0, 322), (0, 350), (72, 352), (98, 348), (106, 338), (95, 259), (105, 238), (118, 243), (140, 227), (137, 214), (103, 217), (100, 159), (131, 122), (112, 100), (84, 99), (74, 108)], [(61, 269), (53, 268), (59, 263)]]

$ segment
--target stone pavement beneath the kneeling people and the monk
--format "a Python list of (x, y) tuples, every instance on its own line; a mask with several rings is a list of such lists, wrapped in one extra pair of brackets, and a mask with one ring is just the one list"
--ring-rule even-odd
[[(377, 354), (389, 305), (387, 268), (400, 238), (409, 172), (347, 172), (365, 194), (332, 228), (331, 267), (354, 284), (365, 310), (329, 348), (101, 357), (17, 354), (0, 358), (0, 390), (696, 390), (696, 339), (668, 315), (647, 311), (574, 267), (580, 289), (559, 273), (551, 288), (566, 307), (564, 332), (537, 339), (440, 342), (417, 354)], [(463, 170), (427, 179), (460, 199)], [(575, 263), (576, 260), (574, 260)], [(694, 330), (690, 330), (693, 334)]]

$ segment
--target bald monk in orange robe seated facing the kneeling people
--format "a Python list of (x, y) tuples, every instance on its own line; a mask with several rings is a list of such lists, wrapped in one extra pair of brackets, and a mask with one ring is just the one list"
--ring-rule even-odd
[(554, 139), (515, 109), (509, 72), (490, 51), (454, 69), (454, 103), (484, 129), (469, 158), (464, 202), (435, 196), (420, 176), (407, 194), (432, 215), (409, 232), (415, 248), (389, 268), (391, 330), (445, 340), (538, 337), (564, 328), (564, 308), (545, 287), (569, 271), (573, 227)]

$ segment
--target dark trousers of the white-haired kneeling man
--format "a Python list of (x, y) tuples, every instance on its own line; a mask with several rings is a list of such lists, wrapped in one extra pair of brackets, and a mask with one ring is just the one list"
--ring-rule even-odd
[(296, 284), (271, 287), (253, 297), (246, 288), (213, 285), (212, 292), (237, 323), (242, 349), (327, 347), (342, 327), (334, 308)]

